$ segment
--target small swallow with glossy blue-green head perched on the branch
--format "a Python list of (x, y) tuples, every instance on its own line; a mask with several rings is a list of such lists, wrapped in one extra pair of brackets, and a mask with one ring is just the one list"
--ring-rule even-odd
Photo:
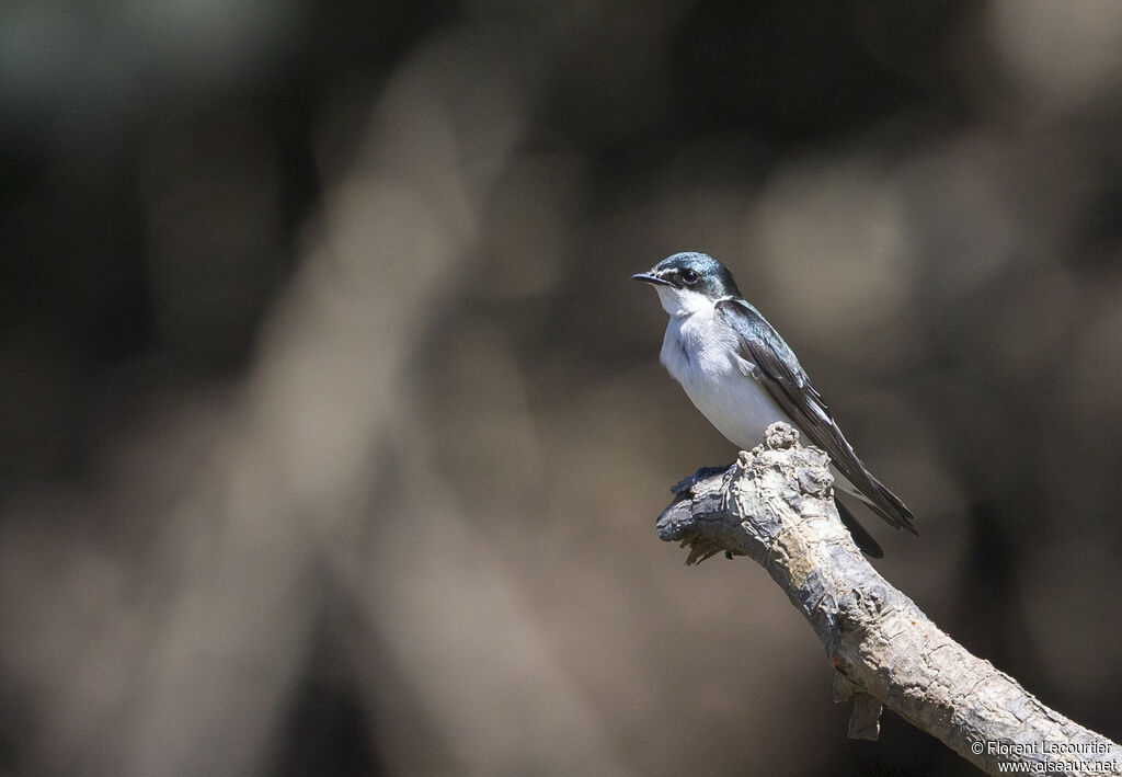
[[(659, 293), (670, 316), (660, 360), (717, 431), (749, 450), (769, 426), (789, 423), (829, 455), (838, 488), (890, 525), (919, 533), (914, 515), (857, 458), (794, 351), (741, 295), (725, 265), (708, 254), (683, 252), (632, 278)], [(872, 534), (836, 497), (835, 503), (857, 547), (882, 558)]]

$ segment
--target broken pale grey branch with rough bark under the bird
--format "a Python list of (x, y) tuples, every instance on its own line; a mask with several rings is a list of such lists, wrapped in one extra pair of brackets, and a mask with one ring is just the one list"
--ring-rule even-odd
[(1122, 771), (1122, 748), (972, 656), (870, 566), (838, 519), (828, 464), (772, 424), (727, 470), (674, 486), (659, 536), (689, 546), (687, 564), (725, 551), (763, 565), (834, 662), (835, 700), (854, 701), (850, 737), (876, 739), (885, 705), (988, 774), (1003, 761), (1033, 774)]

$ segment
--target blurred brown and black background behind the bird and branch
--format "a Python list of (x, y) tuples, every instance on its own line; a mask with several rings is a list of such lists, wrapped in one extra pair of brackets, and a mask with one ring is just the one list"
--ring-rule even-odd
[(1116, 0), (0, 6), (0, 775), (973, 774), (668, 486), (707, 250), (1122, 737)]

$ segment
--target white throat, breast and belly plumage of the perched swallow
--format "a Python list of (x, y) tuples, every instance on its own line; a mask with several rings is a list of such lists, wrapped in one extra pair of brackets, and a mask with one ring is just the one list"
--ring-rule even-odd
[[(725, 323), (714, 300), (688, 289), (655, 289), (670, 314), (662, 365), (717, 431), (742, 450), (751, 450), (764, 441), (764, 431), (775, 421), (799, 429), (753, 377), (755, 365), (739, 356), (739, 335)], [(810, 444), (806, 431), (802, 437)], [(838, 488), (867, 501), (834, 465), (830, 473)]]

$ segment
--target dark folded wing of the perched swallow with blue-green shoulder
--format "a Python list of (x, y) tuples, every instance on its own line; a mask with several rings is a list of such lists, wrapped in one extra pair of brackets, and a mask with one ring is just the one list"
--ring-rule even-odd
[(746, 363), (745, 371), (811, 442), (829, 454), (834, 466), (864, 495), (877, 515), (898, 529), (917, 533), (911, 511), (861, 463), (821, 395), (810, 385), (799, 359), (760, 311), (737, 298), (720, 300), (717, 310), (741, 336), (739, 356)]

